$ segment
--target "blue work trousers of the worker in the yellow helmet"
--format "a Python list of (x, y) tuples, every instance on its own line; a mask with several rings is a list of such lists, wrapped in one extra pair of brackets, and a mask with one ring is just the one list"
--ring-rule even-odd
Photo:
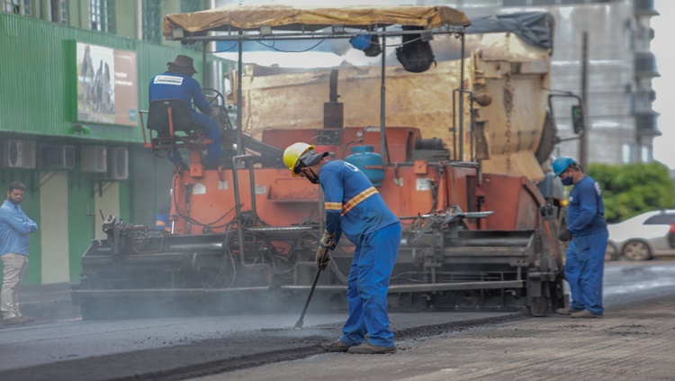
[(354, 346), (368, 342), (393, 347), (389, 328), (387, 292), (392, 270), (401, 244), (401, 222), (364, 234), (356, 244), (352, 268), (347, 277), (349, 316), (340, 340)]

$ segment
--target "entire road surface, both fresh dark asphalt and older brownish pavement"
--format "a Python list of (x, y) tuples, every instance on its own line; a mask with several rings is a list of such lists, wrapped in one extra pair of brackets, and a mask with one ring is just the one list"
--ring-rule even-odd
[[(580, 361), (592, 378), (621, 379), (595, 364), (659, 372), (658, 358), (675, 353), (668, 304), (675, 300), (675, 264), (613, 263), (605, 284), (606, 318), (582, 322), (525, 313), (392, 313), (399, 351), (375, 358), (320, 349), (320, 342), (338, 338), (345, 313), (308, 313), (302, 331), (293, 330), (299, 313), (27, 325), (0, 331), (0, 379), (539, 379)], [(407, 365), (392, 374), (392, 363)], [(674, 379), (666, 370), (647, 378)]]

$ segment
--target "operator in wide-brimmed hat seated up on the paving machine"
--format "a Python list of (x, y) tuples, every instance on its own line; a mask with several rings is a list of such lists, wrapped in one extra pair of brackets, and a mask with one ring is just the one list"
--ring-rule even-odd
[[(220, 124), (207, 116), (216, 116), (220, 110), (211, 108), (202, 95), (202, 86), (193, 78), (197, 70), (193, 67), (193, 59), (183, 55), (175, 56), (173, 62), (166, 62), (168, 69), (150, 79), (149, 102), (160, 99), (181, 99), (192, 111), (193, 121), (204, 132), (206, 139), (212, 142), (207, 147), (204, 167), (207, 169), (218, 168), (220, 164)], [(202, 113), (193, 110), (192, 104), (199, 108)], [(176, 168), (186, 169), (187, 165), (178, 150), (169, 150), (167, 157), (174, 163)]]

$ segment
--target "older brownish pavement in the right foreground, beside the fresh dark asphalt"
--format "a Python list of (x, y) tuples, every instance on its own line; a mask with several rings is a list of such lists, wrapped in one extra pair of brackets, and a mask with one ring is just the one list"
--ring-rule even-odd
[(324, 352), (192, 381), (675, 380), (675, 298), (604, 319), (562, 315), (397, 342), (385, 355)]

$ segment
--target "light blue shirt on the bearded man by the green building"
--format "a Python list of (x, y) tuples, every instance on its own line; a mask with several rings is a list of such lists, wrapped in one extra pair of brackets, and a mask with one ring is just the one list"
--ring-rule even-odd
[(23, 213), (21, 205), (4, 200), (0, 206), (0, 256), (7, 253), (28, 256), (28, 235), (35, 231), (38, 224)]

